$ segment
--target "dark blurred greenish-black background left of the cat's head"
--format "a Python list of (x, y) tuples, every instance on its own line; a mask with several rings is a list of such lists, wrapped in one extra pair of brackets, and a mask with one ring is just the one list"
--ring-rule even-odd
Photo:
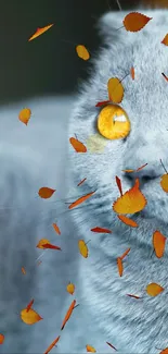
[[(119, 2), (122, 10), (139, 3)], [(163, 2), (168, 4), (157, 1)], [(0, 4), (0, 103), (75, 90), (88, 66), (75, 46), (83, 44), (94, 52), (100, 44), (98, 19), (109, 9), (119, 11), (117, 0), (1, 0)], [(51, 23), (49, 32), (28, 41), (37, 27)]]

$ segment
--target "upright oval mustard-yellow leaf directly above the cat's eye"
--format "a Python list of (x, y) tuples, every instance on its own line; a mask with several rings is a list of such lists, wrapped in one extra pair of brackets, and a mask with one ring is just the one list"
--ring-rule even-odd
[(119, 78), (117, 77), (109, 78), (107, 83), (107, 90), (108, 90), (109, 100), (112, 100), (113, 103), (121, 102), (124, 98), (124, 87)]

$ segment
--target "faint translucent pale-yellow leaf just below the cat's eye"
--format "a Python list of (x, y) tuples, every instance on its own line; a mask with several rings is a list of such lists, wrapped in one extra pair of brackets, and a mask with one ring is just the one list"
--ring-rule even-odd
[(92, 154), (103, 152), (107, 142), (100, 134), (90, 135), (86, 142), (88, 150)]

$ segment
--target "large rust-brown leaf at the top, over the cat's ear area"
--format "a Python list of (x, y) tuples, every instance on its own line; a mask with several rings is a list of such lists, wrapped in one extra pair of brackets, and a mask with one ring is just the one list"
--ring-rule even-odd
[(142, 29), (152, 17), (147, 17), (140, 12), (130, 12), (126, 15), (122, 23), (127, 30), (138, 32)]

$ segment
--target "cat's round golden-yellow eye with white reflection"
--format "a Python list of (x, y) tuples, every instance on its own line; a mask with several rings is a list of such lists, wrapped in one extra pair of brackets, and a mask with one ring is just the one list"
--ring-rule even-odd
[(101, 110), (98, 117), (98, 130), (107, 139), (118, 139), (129, 134), (131, 123), (121, 107), (108, 105)]

